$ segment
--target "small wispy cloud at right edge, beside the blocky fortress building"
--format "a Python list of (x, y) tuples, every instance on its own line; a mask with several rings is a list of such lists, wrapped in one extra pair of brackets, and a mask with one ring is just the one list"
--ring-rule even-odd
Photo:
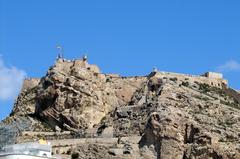
[(240, 71), (240, 63), (235, 60), (230, 60), (225, 64), (218, 66), (217, 70), (220, 72)]

